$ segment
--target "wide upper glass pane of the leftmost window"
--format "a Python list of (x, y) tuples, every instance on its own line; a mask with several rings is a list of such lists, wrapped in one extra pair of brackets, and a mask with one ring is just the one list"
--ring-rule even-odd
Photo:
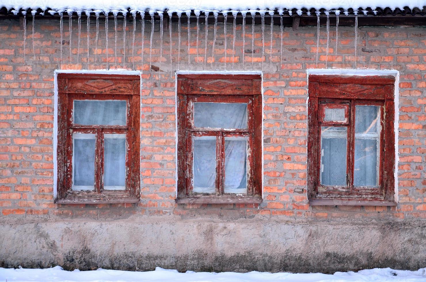
[(126, 125), (126, 101), (74, 100), (75, 124)]

